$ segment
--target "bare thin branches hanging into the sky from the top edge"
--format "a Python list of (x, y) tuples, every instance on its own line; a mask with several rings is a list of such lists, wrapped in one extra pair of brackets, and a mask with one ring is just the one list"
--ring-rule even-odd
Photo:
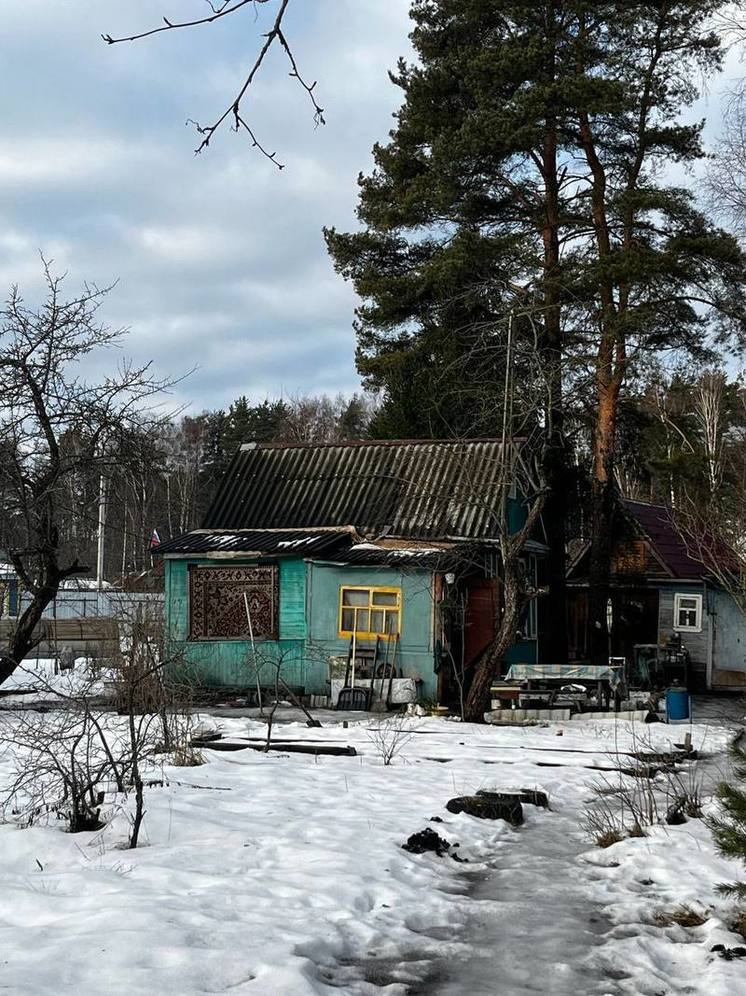
[(275, 152), (269, 152), (257, 138), (252, 126), (248, 123), (246, 117), (244, 116), (243, 103), (268, 53), (273, 47), (279, 47), (287, 57), (290, 67), (290, 78), (296, 80), (308, 96), (313, 109), (314, 122), (317, 125), (326, 123), (324, 120), (324, 108), (321, 107), (319, 102), (316, 100), (316, 81), (314, 80), (313, 83), (309, 83), (301, 75), (295, 55), (293, 54), (293, 50), (288, 42), (287, 35), (285, 34), (284, 18), (288, 7), (290, 6), (290, 0), (207, 0), (207, 4), (210, 8), (210, 13), (205, 14), (202, 17), (197, 16), (184, 21), (174, 21), (163, 17), (163, 23), (155, 28), (150, 28), (139, 33), (117, 38), (112, 37), (110, 34), (105, 34), (101, 37), (109, 45), (117, 45), (121, 42), (128, 41), (141, 41), (144, 38), (150, 38), (153, 35), (162, 34), (164, 32), (170, 33), (189, 28), (205, 27), (206, 25), (214, 24), (216, 21), (220, 21), (223, 18), (231, 17), (234, 14), (240, 14), (242, 12), (248, 13), (250, 10), (253, 10), (253, 12), (256, 13), (256, 9), (259, 5), (267, 4), (269, 6), (276, 4), (277, 13), (272, 26), (269, 31), (264, 34), (264, 41), (258, 43), (258, 52), (251, 64), (251, 68), (238, 88), (238, 91), (231, 103), (218, 115), (217, 118), (215, 118), (211, 124), (200, 124), (198, 121), (192, 121), (191, 123), (195, 126), (198, 134), (201, 136), (201, 141), (195, 149), (195, 152), (197, 153), (206, 149), (212, 141), (213, 135), (222, 125), (228, 122), (232, 123), (232, 128), (235, 132), (246, 132), (251, 139), (253, 148), (258, 149), (258, 151), (269, 159), (270, 162), (274, 163), (278, 169), (284, 169), (282, 163), (277, 160), (277, 154)]

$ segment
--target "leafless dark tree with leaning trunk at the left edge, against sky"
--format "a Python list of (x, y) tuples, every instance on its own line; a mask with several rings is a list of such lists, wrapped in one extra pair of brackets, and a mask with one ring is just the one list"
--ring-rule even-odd
[(98, 320), (107, 289), (86, 286), (65, 298), (46, 263), (44, 275), (39, 308), (14, 287), (0, 311), (0, 488), (12, 527), (8, 554), (31, 595), (0, 658), (0, 682), (34, 647), (44, 609), (63, 581), (88, 569), (75, 543), (62, 543), (63, 519), (90, 515), (71, 508), (75, 481), (82, 473), (109, 477), (122, 448), (168, 417), (153, 399), (174, 383), (155, 377), (150, 364), (126, 360), (100, 382), (86, 381), (80, 365), (118, 346), (124, 334)]

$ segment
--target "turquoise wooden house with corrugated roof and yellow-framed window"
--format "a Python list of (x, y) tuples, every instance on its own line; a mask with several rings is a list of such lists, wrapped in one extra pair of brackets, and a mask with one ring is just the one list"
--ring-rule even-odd
[[(213, 686), (250, 687), (260, 657), (325, 694), (353, 637), (425, 700), (490, 643), (499, 599), (501, 444), (244, 444), (203, 527), (162, 543), (166, 634)], [(511, 528), (523, 521), (509, 499)], [(536, 573), (545, 547), (531, 541)], [(248, 602), (248, 613), (247, 613)], [(536, 660), (536, 604), (511, 660)], [(367, 655), (367, 656), (366, 656)]]

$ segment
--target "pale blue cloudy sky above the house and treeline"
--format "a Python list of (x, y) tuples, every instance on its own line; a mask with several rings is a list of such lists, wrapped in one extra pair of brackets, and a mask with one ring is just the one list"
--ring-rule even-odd
[[(193, 411), (358, 386), (353, 294), (321, 228), (354, 225), (357, 174), (399, 101), (387, 71), (409, 51), (408, 2), (293, 0), (286, 33), (327, 125), (277, 51), (245, 113), (286, 168), (227, 130), (195, 157), (185, 121), (230, 102), (267, 7), (110, 47), (102, 33), (200, 15), (204, 0), (3, 0), (0, 292), (17, 282), (34, 300), (39, 251), (72, 286), (118, 280), (106, 319), (159, 372), (198, 367), (178, 394)], [(724, 85), (696, 108), (711, 134)]]

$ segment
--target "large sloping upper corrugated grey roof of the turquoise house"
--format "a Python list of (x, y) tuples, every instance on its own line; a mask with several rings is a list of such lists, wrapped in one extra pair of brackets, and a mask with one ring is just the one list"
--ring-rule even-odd
[(501, 464), (494, 439), (248, 444), (203, 526), (486, 539), (496, 533)]

